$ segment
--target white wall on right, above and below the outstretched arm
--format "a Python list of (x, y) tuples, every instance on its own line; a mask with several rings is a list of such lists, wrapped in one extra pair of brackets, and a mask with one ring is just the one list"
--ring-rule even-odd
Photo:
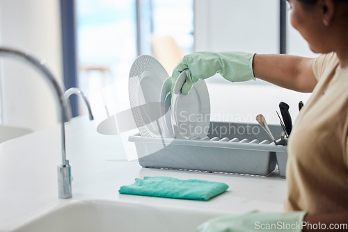
[[(279, 0), (195, 0), (195, 51), (279, 53), (279, 7)], [(313, 56), (289, 23), (287, 31), (289, 53)], [(255, 123), (262, 113), (267, 122), (279, 124), (276, 110), (285, 101), (294, 122), (299, 101), (310, 97), (259, 80), (230, 83), (219, 74), (206, 82), (211, 117), (218, 121)]]

